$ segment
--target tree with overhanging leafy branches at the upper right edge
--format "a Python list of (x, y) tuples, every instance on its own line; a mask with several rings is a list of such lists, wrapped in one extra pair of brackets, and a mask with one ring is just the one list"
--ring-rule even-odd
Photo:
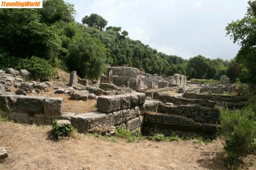
[(227, 35), (233, 43), (240, 44), (241, 48), (236, 61), (248, 74), (247, 81), (256, 81), (256, 1), (249, 1), (249, 7), (244, 18), (228, 23)]

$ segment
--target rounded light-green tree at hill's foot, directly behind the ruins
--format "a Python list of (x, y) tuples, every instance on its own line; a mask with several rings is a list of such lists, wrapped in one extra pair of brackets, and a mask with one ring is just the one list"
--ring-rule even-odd
[(68, 66), (81, 77), (99, 78), (105, 70), (106, 50), (102, 43), (88, 34), (74, 38), (68, 45)]

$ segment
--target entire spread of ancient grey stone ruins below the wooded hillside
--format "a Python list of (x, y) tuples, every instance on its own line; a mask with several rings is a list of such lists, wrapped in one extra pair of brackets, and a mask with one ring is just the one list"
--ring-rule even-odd
[[(51, 125), (54, 119), (69, 120), (81, 133), (99, 126), (120, 126), (139, 128), (143, 135), (213, 137), (221, 108), (241, 108), (248, 103), (246, 98), (220, 94), (236, 91), (226, 76), (221, 77), (220, 85), (199, 85), (189, 84), (180, 74), (162, 78), (133, 67), (109, 66), (100, 83), (79, 83), (76, 71), (72, 71), (69, 82), (63, 84), (24, 82), (27, 71), (7, 72), (0, 70), (0, 108), (10, 120), (37, 125)], [(65, 110), (70, 107), (67, 100), (77, 102), (74, 111)], [(96, 107), (75, 111), (76, 104), (88, 100)]]

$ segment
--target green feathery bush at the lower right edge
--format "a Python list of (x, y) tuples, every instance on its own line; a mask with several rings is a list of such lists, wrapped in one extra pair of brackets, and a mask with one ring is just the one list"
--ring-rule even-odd
[(237, 164), (246, 154), (255, 149), (256, 126), (255, 113), (250, 108), (242, 110), (222, 110), (221, 138), (225, 141), (225, 154), (228, 164)]

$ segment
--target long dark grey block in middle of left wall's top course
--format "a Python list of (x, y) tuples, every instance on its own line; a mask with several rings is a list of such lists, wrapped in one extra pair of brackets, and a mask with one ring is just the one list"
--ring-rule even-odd
[(42, 103), (44, 97), (40, 96), (23, 96), (17, 98), (17, 112), (20, 113), (44, 113)]

